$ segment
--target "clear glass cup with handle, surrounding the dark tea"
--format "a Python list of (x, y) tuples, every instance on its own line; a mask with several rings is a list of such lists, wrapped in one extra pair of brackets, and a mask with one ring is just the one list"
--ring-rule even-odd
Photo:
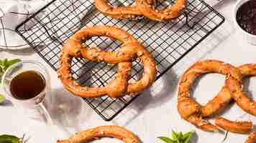
[[(11, 81), (14, 77), (24, 71), (35, 71), (40, 73), (45, 79), (45, 88), (40, 94), (30, 99), (17, 99), (11, 92)], [(50, 76), (46, 67), (37, 61), (24, 60), (10, 66), (4, 73), (1, 85), (6, 92), (6, 99), (9, 99), (17, 109), (21, 109), (29, 118), (45, 122), (52, 125), (52, 118), (49, 111), (51, 109), (52, 97), (50, 96)]]

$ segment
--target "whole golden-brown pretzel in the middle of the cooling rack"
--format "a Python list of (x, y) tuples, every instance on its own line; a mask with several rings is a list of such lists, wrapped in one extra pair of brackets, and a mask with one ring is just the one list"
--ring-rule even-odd
[[(89, 48), (85, 41), (92, 36), (107, 36), (122, 42), (119, 51), (103, 51), (97, 47)], [(118, 64), (116, 78), (105, 87), (81, 87), (70, 71), (73, 57), (84, 57), (91, 61), (104, 61), (108, 64)], [(132, 70), (132, 61), (139, 59), (144, 66), (142, 78), (129, 83)], [(80, 97), (97, 98), (104, 95), (109, 97), (122, 97), (125, 94), (137, 94), (155, 82), (157, 74), (156, 64), (149, 51), (137, 39), (122, 29), (113, 26), (93, 26), (81, 29), (70, 37), (63, 47), (60, 57), (58, 75), (63, 86), (68, 91)]]

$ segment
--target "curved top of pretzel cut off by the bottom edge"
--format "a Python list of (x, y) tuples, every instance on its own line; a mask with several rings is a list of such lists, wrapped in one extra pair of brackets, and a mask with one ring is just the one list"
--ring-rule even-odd
[(57, 143), (86, 143), (101, 137), (115, 137), (125, 143), (138, 143), (138, 137), (123, 127), (101, 126), (78, 132), (69, 139), (58, 140)]

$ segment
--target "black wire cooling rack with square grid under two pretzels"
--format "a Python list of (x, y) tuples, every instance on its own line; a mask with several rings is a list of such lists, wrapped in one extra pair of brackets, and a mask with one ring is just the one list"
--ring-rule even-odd
[[(132, 2), (110, 1), (115, 6), (126, 6)], [(163, 9), (170, 4), (172, 1), (163, 1), (157, 4), (157, 8)], [(156, 22), (145, 18), (136, 21), (116, 20), (97, 11), (93, 0), (54, 0), (17, 26), (16, 31), (47, 64), (57, 70), (62, 46), (76, 31), (84, 26), (118, 26), (133, 34), (155, 57), (159, 79), (223, 22), (224, 17), (201, 0), (189, 1), (183, 15), (171, 22)], [(102, 36), (93, 37), (87, 44), (109, 51), (115, 51), (120, 45), (119, 42)], [(142, 69), (140, 63), (134, 61), (131, 81), (140, 78)], [(74, 58), (72, 71), (73, 77), (82, 85), (102, 87), (114, 79), (116, 65)], [(119, 99), (101, 97), (84, 100), (103, 119), (110, 121), (135, 98), (124, 96)]]

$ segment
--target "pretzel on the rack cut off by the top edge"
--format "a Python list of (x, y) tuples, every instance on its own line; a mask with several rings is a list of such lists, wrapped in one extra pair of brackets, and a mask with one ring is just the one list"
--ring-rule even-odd
[(155, 21), (170, 21), (178, 18), (186, 7), (187, 0), (176, 0), (173, 6), (163, 11), (155, 9), (156, 0), (135, 0), (134, 6), (113, 7), (104, 0), (95, 0), (96, 8), (114, 19), (136, 19), (138, 16), (146, 16)]

